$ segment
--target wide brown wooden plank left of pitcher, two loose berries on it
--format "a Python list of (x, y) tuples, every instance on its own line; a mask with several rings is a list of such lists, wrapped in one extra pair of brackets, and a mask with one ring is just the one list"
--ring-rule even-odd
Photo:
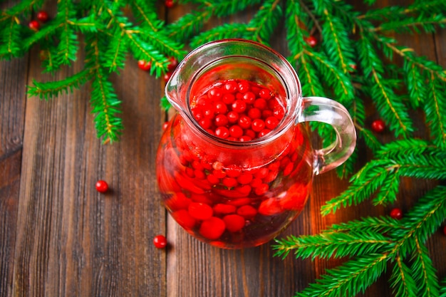
[[(33, 52), (28, 83), (64, 78), (82, 60), (49, 77)], [(165, 254), (151, 243), (165, 228), (154, 177), (162, 90), (135, 61), (113, 81), (126, 127), (113, 145), (95, 136), (88, 86), (48, 102), (28, 98), (14, 296), (165, 295)], [(98, 179), (110, 192), (95, 191)]]

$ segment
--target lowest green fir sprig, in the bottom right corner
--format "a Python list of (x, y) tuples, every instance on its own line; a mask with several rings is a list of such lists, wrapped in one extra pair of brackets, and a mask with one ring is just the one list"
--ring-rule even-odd
[(446, 217), (446, 187), (420, 198), (401, 220), (365, 217), (334, 224), (321, 234), (276, 239), (276, 256), (312, 259), (346, 257), (296, 296), (354, 296), (393, 266), (389, 279), (395, 296), (439, 296), (440, 285), (425, 243)]

